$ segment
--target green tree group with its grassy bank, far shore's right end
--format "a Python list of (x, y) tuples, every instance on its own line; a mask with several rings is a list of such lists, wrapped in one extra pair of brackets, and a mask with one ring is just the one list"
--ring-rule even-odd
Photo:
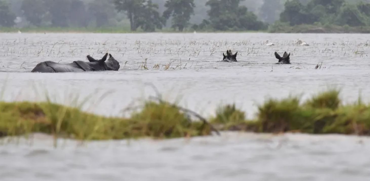
[(370, 3), (364, 1), (290, 0), (270, 32), (369, 33), (369, 12)]

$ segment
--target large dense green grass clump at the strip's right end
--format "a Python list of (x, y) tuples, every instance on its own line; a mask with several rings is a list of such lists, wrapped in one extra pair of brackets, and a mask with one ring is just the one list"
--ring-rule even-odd
[(300, 104), (299, 98), (270, 99), (259, 106), (258, 132), (370, 135), (370, 107), (342, 105), (339, 91), (329, 90)]

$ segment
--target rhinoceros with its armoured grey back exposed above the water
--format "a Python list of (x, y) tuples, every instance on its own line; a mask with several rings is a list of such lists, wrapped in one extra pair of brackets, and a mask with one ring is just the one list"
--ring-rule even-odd
[(95, 60), (90, 55), (87, 56), (89, 62), (74, 61), (72, 63), (63, 64), (52, 61), (41, 62), (31, 72), (42, 72), (42, 73), (56, 73), (56, 72), (87, 72), (87, 71), (104, 71), (104, 70), (115, 70), (120, 69), (120, 63), (108, 53), (105, 53), (104, 57), (100, 60)]

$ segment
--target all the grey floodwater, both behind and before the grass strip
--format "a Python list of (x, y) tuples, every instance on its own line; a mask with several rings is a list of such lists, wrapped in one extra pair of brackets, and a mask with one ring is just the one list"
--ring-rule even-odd
[[(266, 46), (269, 39), (275, 46)], [(295, 45), (302, 39), (310, 46)], [(238, 62), (222, 53), (238, 51)], [(276, 65), (273, 53), (291, 53)], [(111, 53), (118, 72), (30, 73), (38, 62), (69, 63)], [(306, 99), (330, 87), (344, 102), (369, 101), (370, 41), (364, 34), (0, 34), (0, 96), (52, 101), (102, 115), (155, 95), (211, 116), (235, 103), (255, 116), (266, 98)], [(315, 69), (319, 65), (319, 69)], [(86, 101), (85, 101), (86, 100)], [(370, 102), (370, 101), (369, 101)], [(223, 133), (191, 140), (73, 141), (0, 146), (1, 180), (366, 180), (370, 139)]]

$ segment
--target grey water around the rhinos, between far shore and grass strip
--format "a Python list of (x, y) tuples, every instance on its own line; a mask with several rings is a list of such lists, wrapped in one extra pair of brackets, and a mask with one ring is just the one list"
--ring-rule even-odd
[[(120, 110), (132, 101), (153, 95), (147, 85), (151, 83), (169, 101), (178, 101), (205, 116), (212, 115), (218, 105), (236, 103), (253, 117), (256, 105), (268, 97), (293, 94), (304, 99), (328, 87), (341, 88), (344, 101), (356, 100), (360, 92), (369, 100), (370, 42), (366, 37), (263, 33), (1, 34), (0, 83), (6, 82), (3, 98), (7, 101), (43, 100), (48, 94), (55, 102), (72, 104), (73, 95), (80, 99), (89, 97), (95, 104), (85, 109), (104, 115), (120, 115)], [(299, 38), (310, 46), (295, 45)], [(266, 39), (275, 46), (264, 45)], [(238, 51), (239, 62), (220, 62), (227, 49)], [(292, 64), (276, 65), (275, 51), (291, 53)], [(86, 60), (86, 55), (101, 58), (105, 52), (120, 61), (118, 72), (29, 73), (41, 61), (69, 63)], [(314, 69), (317, 64), (321, 69)], [(99, 101), (102, 94), (108, 95)]]

